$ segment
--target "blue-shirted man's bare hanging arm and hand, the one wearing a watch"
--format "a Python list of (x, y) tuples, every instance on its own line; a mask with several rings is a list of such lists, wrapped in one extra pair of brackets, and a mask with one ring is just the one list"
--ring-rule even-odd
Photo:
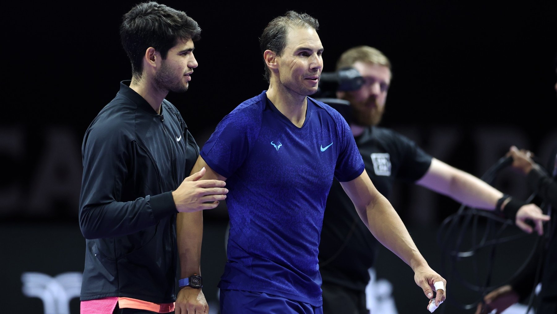
[[(197, 158), (192, 173), (205, 168), (205, 174), (200, 180), (216, 179), (226, 181), (226, 178), (214, 172), (201, 156)], [(203, 212), (179, 212), (176, 216), (178, 256), (180, 262), (180, 278), (187, 278), (193, 274), (201, 276), (201, 243), (203, 240)], [(184, 287), (178, 292), (175, 303), (176, 313), (187, 313), (194, 308), (209, 308), (202, 289)]]

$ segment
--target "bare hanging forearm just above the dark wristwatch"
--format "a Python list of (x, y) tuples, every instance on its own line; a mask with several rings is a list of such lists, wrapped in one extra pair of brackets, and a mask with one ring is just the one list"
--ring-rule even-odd
[(177, 215), (178, 256), (180, 278), (201, 274), (201, 241), (203, 239), (203, 214), (180, 212)]

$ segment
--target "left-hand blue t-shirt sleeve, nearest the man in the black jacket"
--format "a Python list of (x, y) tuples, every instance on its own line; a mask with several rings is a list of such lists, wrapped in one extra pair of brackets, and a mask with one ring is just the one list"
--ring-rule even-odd
[(239, 116), (235, 111), (226, 115), (201, 149), (207, 165), (225, 178), (236, 172), (249, 151), (252, 128)]

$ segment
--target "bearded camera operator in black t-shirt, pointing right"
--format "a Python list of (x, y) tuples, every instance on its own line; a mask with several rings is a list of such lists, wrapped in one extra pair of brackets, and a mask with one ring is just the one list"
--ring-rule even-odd
[[(378, 127), (391, 80), (390, 61), (382, 52), (369, 46), (346, 50), (336, 69), (348, 67), (358, 71), (362, 84), (355, 90), (340, 90), (336, 96), (350, 104), (345, 107), (349, 109), (345, 118), (365, 170), (381, 194), (389, 197), (394, 180), (414, 182), (471, 207), (502, 210), (527, 233), (533, 229), (525, 220), (532, 220), (538, 233), (543, 232), (542, 223), (549, 216), (543, 215), (538, 206), (514, 199), (503, 204), (502, 192), (486, 182), (429, 156), (397, 132)], [(369, 313), (365, 287), (376, 253), (377, 241), (335, 180), (326, 204), (319, 246), (324, 313)]]

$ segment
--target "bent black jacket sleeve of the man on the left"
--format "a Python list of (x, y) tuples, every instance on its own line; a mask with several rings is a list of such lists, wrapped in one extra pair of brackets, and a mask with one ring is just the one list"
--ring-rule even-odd
[[(119, 201), (128, 176), (133, 140), (116, 128), (90, 128), (82, 146), (79, 223), (86, 239), (127, 235), (177, 212), (172, 192)], [(133, 178), (131, 178), (133, 179)]]

